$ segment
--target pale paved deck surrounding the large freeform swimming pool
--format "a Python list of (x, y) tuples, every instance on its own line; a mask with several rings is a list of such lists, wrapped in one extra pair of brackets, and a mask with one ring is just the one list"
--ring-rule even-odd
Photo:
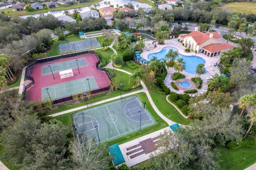
[[(152, 43), (152, 42), (153, 41), (147, 41), (147, 43)], [(197, 89), (198, 92), (196, 94), (205, 92), (203, 87), (206, 85), (206, 82), (207, 82), (206, 78), (210, 78), (211, 76), (214, 76), (215, 74), (217, 74), (217, 72), (213, 68), (213, 65), (214, 65), (214, 63), (217, 63), (220, 60), (220, 55), (209, 57), (209, 56), (204, 55), (203, 53), (194, 53), (194, 52), (187, 53), (183, 49), (181, 49), (180, 47), (175, 45), (173, 42), (178, 43), (178, 44), (181, 45), (181, 43), (178, 41), (178, 38), (166, 39), (165, 42), (164, 42), (165, 43), (164, 45), (157, 44), (158, 50), (156, 50), (154, 52), (144, 50), (141, 53), (141, 57), (143, 59), (148, 60), (148, 58), (147, 58), (148, 54), (157, 53), (157, 52), (161, 51), (162, 48), (164, 48), (164, 47), (173, 47), (173, 48), (177, 49), (180, 54), (187, 55), (187, 56), (199, 56), (199, 57), (203, 58), (205, 60), (205, 69), (208, 71), (208, 73), (206, 73), (205, 75), (200, 76), (203, 80), (203, 85), (202, 85), (201, 89), (199, 89), (199, 90)], [(167, 72), (168, 72), (168, 74), (173, 74), (174, 72), (177, 72), (177, 71), (175, 71), (173, 68), (169, 67), (169, 68), (167, 68)], [(198, 75), (190, 74), (186, 71), (183, 71), (181, 73), (183, 73), (186, 76), (187, 79), (191, 79), (193, 77), (198, 77)], [(169, 79), (169, 84), (171, 84), (171, 82), (172, 82), (172, 80)], [(178, 91), (174, 90), (174, 88), (172, 88), (172, 87), (170, 89), (171, 89), (171, 91), (173, 91), (175, 93), (179, 93), (179, 94), (183, 94), (183, 92), (184, 92), (181, 89), (178, 90)]]

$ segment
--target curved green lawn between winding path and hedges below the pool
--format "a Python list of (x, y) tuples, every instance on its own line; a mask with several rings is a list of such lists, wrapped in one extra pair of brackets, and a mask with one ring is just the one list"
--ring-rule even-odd
[[(166, 95), (159, 94), (154, 89), (150, 90), (149, 87), (148, 90), (151, 95), (151, 98), (156, 104), (156, 107), (159, 109), (159, 111), (161, 111), (161, 113), (165, 117), (183, 125), (188, 125), (191, 122), (191, 120), (186, 119), (185, 117), (180, 115), (179, 111), (176, 110), (169, 102), (167, 102)], [(170, 114), (170, 116), (167, 116), (167, 114)]]

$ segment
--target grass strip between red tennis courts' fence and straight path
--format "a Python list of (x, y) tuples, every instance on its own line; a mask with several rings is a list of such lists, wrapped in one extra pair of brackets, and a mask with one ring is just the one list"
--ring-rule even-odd
[[(121, 82), (124, 84), (124, 87), (127, 87), (127, 86), (131, 87), (131, 85), (129, 85), (129, 75), (125, 74), (124, 72), (117, 71), (117, 70), (115, 70), (115, 74), (116, 74), (116, 77), (118, 77), (121, 80)], [(122, 94), (131, 93), (131, 92), (137, 91), (139, 89), (140, 88), (137, 87), (137, 88), (132, 89), (131, 91), (122, 92)], [(108, 94), (107, 92), (101, 93), (101, 94), (95, 96), (94, 98), (92, 98), (91, 100), (89, 100), (88, 103), (94, 103), (97, 101), (114, 98), (115, 96), (119, 96), (119, 95), (120, 95), (119, 90), (111, 92), (110, 94)], [(60, 105), (56, 106), (57, 107), (56, 109), (54, 108), (53, 110), (47, 110), (47, 111), (45, 111), (45, 113), (46, 113), (46, 115), (51, 115), (51, 114), (55, 114), (60, 111), (65, 111), (65, 110), (77, 108), (80, 106), (84, 106), (85, 104), (86, 104), (86, 102), (74, 103), (71, 101), (71, 102), (67, 102), (65, 104), (60, 104)]]

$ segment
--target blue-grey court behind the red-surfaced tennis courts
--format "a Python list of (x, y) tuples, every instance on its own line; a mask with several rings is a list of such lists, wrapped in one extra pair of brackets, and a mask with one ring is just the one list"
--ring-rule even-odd
[(100, 47), (100, 44), (98, 43), (96, 38), (90, 38), (82, 41), (59, 44), (58, 47), (59, 47), (59, 52), (62, 54), (62, 53), (87, 50), (91, 48), (98, 48)]

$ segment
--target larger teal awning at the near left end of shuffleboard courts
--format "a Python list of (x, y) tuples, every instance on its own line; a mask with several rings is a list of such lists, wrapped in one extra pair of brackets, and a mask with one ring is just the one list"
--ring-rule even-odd
[(119, 148), (119, 145), (117, 143), (108, 147), (108, 151), (112, 157), (114, 166), (125, 162), (121, 149)]

